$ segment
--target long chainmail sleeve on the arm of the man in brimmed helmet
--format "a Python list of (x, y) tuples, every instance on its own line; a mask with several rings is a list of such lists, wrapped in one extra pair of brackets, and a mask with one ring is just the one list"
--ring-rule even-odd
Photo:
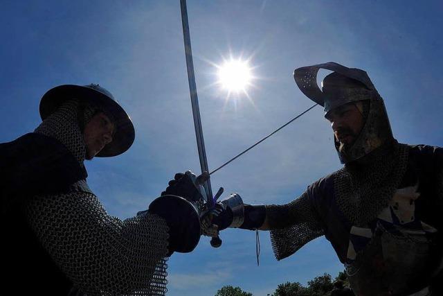
[(111, 217), (91, 193), (35, 196), (28, 222), (73, 284), (91, 295), (165, 295), (168, 226), (146, 214)]

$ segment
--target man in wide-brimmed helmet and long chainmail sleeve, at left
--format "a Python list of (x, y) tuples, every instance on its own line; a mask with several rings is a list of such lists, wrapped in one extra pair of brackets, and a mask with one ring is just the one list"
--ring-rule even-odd
[(2, 294), (165, 295), (168, 258), (199, 242), (195, 176), (181, 197), (168, 189), (133, 218), (109, 216), (84, 161), (125, 153), (132, 120), (93, 84), (54, 87), (39, 111), (34, 132), (0, 144)]

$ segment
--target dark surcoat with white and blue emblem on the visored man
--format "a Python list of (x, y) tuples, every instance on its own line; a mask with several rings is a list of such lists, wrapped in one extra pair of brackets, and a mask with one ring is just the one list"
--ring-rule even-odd
[[(334, 175), (308, 187), (318, 223), (340, 261), (349, 267), (351, 282), (352, 273), (359, 274), (353, 286), (363, 291), (374, 285), (381, 290), (408, 286), (408, 293), (412, 293), (437, 277), (435, 270), (439, 270), (443, 250), (442, 171), (442, 148), (410, 146), (408, 166), (397, 192), (367, 227), (352, 225), (338, 209)], [(394, 273), (397, 279), (393, 279)], [(366, 293), (374, 295), (373, 290)], [(435, 290), (433, 293), (437, 295)]]

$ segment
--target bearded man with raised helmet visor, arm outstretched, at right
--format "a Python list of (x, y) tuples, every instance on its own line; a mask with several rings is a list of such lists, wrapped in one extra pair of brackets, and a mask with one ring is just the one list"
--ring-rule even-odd
[[(332, 71), (321, 85), (319, 69)], [(343, 168), (287, 204), (217, 203), (211, 227), (271, 232), (276, 259), (325, 236), (356, 295), (443, 295), (443, 149), (398, 143), (368, 74), (335, 62), (294, 71), (323, 106)]]

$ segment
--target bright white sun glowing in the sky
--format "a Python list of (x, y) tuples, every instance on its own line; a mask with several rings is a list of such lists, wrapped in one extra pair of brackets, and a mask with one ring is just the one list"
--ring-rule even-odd
[(227, 60), (218, 68), (218, 84), (228, 92), (244, 92), (251, 85), (253, 78), (251, 67), (246, 60)]

